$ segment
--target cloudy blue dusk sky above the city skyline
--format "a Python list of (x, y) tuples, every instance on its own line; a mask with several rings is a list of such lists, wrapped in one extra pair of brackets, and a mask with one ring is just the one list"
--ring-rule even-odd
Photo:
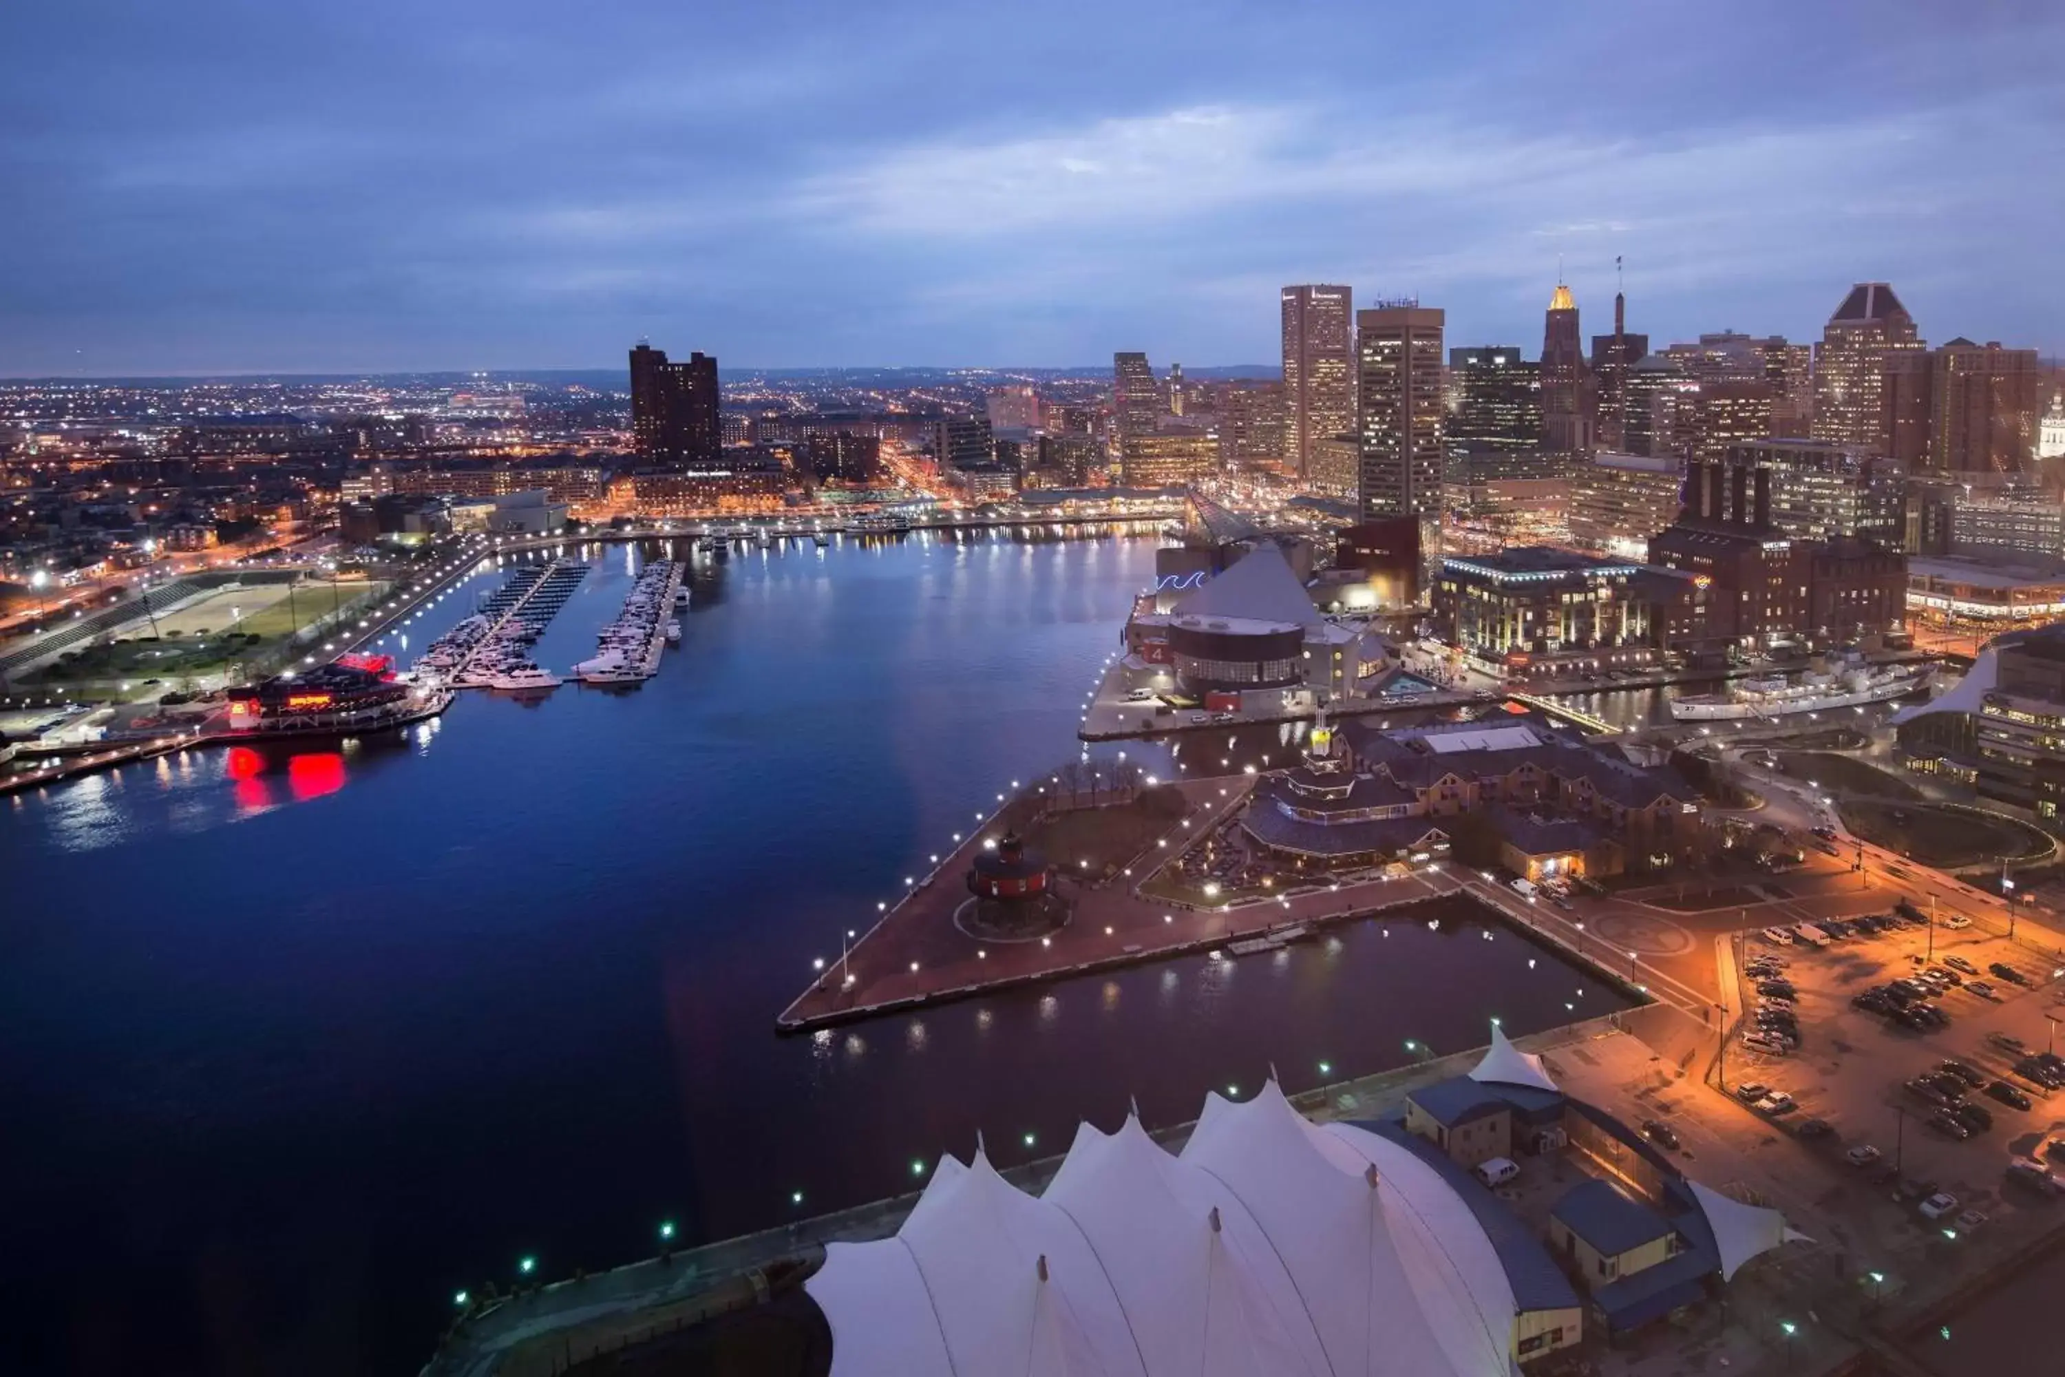
[(2044, 0), (23, 0), (0, 374), (1276, 355), (1282, 283), (1540, 347), (1858, 279), (2065, 353)]

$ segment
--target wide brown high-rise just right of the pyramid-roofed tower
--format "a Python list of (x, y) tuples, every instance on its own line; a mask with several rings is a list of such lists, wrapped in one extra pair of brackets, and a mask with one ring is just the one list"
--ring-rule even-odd
[(1887, 452), (1914, 473), (2024, 473), (2038, 448), (2040, 382), (2034, 349), (1953, 339), (1892, 355)]

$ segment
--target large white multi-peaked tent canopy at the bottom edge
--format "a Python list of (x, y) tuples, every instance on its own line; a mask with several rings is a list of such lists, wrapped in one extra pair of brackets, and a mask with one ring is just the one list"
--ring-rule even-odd
[(1510, 1377), (1514, 1303), (1454, 1189), (1307, 1123), (1270, 1082), (1208, 1096), (1181, 1156), (1084, 1125), (1043, 1197), (942, 1158), (892, 1239), (805, 1284), (832, 1377)]

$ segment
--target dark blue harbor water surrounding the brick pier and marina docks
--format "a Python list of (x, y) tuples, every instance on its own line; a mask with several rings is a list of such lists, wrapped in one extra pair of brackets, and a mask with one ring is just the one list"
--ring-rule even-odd
[(694, 1243), (898, 1193), (979, 1131), (1012, 1164), (1272, 1065), (1295, 1090), (1617, 1007), (1505, 929), (1400, 919), (776, 1038), (843, 931), (1078, 751), (1152, 551), (568, 547), (597, 568), (533, 648), (553, 673), (642, 559), (694, 559), (634, 692), (469, 694), (394, 741), (0, 801), (8, 1371), (413, 1373), (518, 1257), (607, 1268), (663, 1220)]

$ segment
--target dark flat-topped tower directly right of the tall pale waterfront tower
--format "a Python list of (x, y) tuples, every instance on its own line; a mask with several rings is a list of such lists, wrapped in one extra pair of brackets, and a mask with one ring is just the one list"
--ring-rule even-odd
[(1441, 328), (1443, 314), (1419, 301), (1355, 314), (1365, 520), (1441, 510)]

